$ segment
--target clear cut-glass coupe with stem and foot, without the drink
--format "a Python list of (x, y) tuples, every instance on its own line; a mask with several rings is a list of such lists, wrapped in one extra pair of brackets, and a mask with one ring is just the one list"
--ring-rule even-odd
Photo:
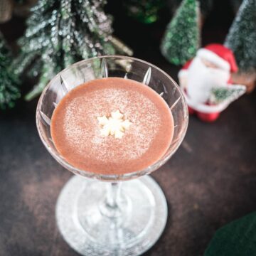
[[(83, 82), (108, 77), (148, 85), (164, 98), (174, 117), (169, 149), (144, 170), (95, 174), (69, 164), (53, 144), (50, 120), (58, 102)], [(36, 124), (46, 149), (76, 174), (64, 186), (56, 206), (58, 228), (65, 241), (81, 255), (90, 256), (140, 255), (154, 245), (166, 225), (167, 205), (159, 185), (146, 174), (159, 169), (174, 154), (188, 126), (188, 108), (176, 82), (155, 65), (136, 58), (112, 55), (82, 60), (49, 82), (38, 102)]]

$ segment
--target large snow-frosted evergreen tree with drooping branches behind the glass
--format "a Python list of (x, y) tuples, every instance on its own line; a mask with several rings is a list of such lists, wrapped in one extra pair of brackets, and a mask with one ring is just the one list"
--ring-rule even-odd
[(26, 100), (39, 95), (55, 74), (78, 60), (132, 55), (112, 37), (112, 18), (103, 11), (105, 4), (105, 0), (38, 0), (18, 41), (21, 53), (14, 62), (18, 75), (38, 78)]

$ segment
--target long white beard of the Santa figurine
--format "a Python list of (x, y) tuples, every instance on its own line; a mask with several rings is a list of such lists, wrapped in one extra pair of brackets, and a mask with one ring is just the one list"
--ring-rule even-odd
[(201, 58), (193, 58), (188, 68), (188, 97), (195, 103), (206, 103), (213, 87), (225, 86), (230, 79), (228, 70), (208, 68)]

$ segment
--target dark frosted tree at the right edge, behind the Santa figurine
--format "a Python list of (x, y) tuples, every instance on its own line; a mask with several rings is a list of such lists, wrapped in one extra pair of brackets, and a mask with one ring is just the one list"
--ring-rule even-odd
[(256, 0), (242, 1), (225, 46), (233, 50), (241, 72), (256, 70)]

